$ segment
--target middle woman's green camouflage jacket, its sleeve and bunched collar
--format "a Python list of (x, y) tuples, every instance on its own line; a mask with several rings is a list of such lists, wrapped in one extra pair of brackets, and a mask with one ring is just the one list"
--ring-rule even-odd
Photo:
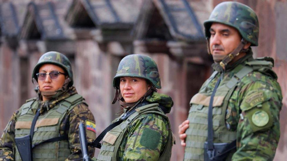
[[(159, 106), (167, 109), (172, 106), (171, 97), (156, 92), (146, 100), (150, 104), (160, 103)], [(153, 130), (153, 133), (143, 136), (147, 129)], [(119, 160), (158, 160), (168, 142), (169, 130), (169, 122), (163, 116), (154, 113), (141, 115), (131, 123), (124, 134), (118, 152)], [(148, 142), (148, 139), (154, 137), (154, 133), (160, 134), (158, 142)]]

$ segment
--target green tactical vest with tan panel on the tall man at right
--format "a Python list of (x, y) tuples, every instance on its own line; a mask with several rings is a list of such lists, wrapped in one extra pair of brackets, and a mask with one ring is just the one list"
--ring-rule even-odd
[[(233, 94), (238, 82), (241, 81), (248, 73), (260, 71), (262, 67), (270, 67), (271, 62), (254, 60), (247, 62), (246, 65), (238, 65), (233, 69), (235, 72), (232, 77), (224, 77), (218, 86), (213, 100), (213, 143), (230, 143), (236, 139), (236, 131), (229, 131), (226, 128), (225, 118), (228, 101)], [(270, 69), (270, 68), (268, 68)], [(212, 90), (207, 86), (219, 73), (217, 71), (206, 80), (201, 89), (195, 94), (190, 101), (190, 110), (188, 114), (189, 128), (186, 130), (186, 148), (184, 160), (204, 160), (204, 142), (207, 141), (208, 125), (208, 105), (211, 98)], [(218, 77), (219, 79), (219, 77)], [(235, 150), (230, 152), (227, 160)]]

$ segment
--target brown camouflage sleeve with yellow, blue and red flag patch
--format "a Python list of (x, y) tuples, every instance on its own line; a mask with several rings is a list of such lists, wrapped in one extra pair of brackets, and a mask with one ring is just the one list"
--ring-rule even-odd
[[(87, 124), (95, 125), (94, 116), (85, 104), (79, 104), (75, 106), (71, 111), (69, 111), (69, 113), (67, 113), (67, 116), (62, 121), (61, 128), (67, 129), (66, 133), (68, 133), (69, 148), (71, 150), (71, 155), (69, 155), (69, 157), (66, 160), (81, 160), (82, 159), (82, 151), (81, 151), (81, 145), (79, 141), (79, 123), (80, 122), (85, 123), (86, 126)], [(65, 128), (64, 126), (69, 126), (69, 127)], [(86, 129), (88, 142), (91, 142), (96, 138), (95, 129), (96, 129), (95, 126), (94, 128)], [(95, 149), (89, 147), (90, 157), (94, 156), (94, 152), (95, 152)]]

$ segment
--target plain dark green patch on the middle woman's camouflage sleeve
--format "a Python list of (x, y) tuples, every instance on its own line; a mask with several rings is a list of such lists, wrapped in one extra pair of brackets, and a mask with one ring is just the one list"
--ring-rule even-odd
[(161, 134), (158, 131), (151, 130), (150, 128), (144, 128), (139, 143), (146, 148), (156, 150), (160, 138)]

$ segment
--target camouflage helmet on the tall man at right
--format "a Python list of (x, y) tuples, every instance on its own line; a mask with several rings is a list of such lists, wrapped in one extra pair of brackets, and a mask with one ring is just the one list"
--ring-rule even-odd
[(218, 4), (209, 19), (204, 22), (206, 38), (210, 37), (209, 28), (213, 22), (236, 28), (242, 38), (251, 43), (251, 46), (258, 46), (258, 18), (256, 13), (245, 4), (231, 1)]

